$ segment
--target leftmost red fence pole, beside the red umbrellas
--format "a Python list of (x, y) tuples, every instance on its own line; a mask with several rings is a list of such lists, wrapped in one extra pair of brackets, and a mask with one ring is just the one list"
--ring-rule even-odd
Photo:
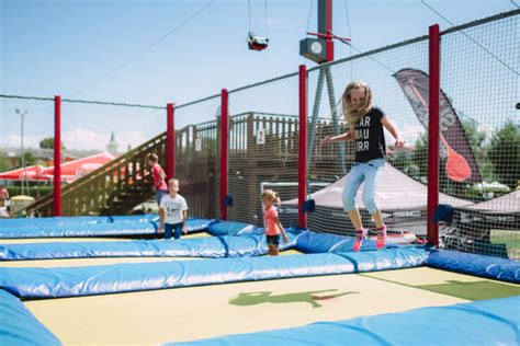
[(61, 96), (54, 96), (54, 216), (61, 216)]

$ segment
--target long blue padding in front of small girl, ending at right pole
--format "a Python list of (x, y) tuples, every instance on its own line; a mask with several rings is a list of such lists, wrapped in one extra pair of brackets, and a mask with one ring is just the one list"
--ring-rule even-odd
[(410, 246), (346, 255), (308, 254), (56, 268), (0, 267), (0, 288), (21, 298), (77, 297), (397, 269), (420, 266), (427, 257), (425, 247)]

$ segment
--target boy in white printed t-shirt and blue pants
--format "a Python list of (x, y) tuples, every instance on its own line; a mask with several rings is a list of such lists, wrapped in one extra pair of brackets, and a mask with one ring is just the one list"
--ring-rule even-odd
[(181, 231), (188, 234), (188, 205), (178, 192), (179, 180), (171, 178), (168, 182), (168, 195), (162, 196), (159, 204), (159, 233), (165, 232), (165, 239), (172, 235), (180, 239)]

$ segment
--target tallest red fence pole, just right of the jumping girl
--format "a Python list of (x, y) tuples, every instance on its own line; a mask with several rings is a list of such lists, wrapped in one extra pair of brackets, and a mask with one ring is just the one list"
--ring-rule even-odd
[(428, 244), (439, 245), (439, 226), (433, 214), (439, 205), (439, 94), (440, 94), (440, 31), (430, 26), (429, 39), (429, 124), (428, 124)]

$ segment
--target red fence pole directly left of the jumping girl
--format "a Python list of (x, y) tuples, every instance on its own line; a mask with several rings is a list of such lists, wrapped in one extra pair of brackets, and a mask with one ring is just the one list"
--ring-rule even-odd
[(307, 228), (302, 210), (307, 196), (307, 68), (299, 66), (299, 140), (298, 140), (298, 227)]

